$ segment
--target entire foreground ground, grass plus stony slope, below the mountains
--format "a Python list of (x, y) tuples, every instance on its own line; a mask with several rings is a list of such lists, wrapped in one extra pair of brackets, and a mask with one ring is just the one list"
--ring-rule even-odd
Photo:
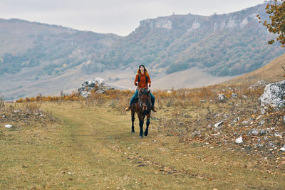
[[(138, 119), (133, 134), (124, 111), (131, 91), (6, 104), (0, 123), (14, 128), (0, 130), (0, 188), (284, 189), (284, 138), (274, 134), (284, 134), (285, 113), (259, 115), (261, 91), (242, 85), (156, 91), (158, 112), (142, 139)], [(218, 93), (227, 101), (219, 102)], [(253, 129), (269, 130), (249, 134)], [(235, 143), (237, 137), (244, 142)]]

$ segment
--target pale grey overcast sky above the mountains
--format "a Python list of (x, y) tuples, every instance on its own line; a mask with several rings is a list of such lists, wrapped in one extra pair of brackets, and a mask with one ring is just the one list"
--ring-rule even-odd
[(264, 0), (0, 0), (1, 19), (24, 19), (127, 36), (144, 19), (175, 14), (227, 14)]

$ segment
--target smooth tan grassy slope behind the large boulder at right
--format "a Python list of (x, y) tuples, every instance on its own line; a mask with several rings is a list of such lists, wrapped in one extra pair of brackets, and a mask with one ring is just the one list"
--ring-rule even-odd
[(262, 68), (252, 71), (244, 75), (240, 75), (237, 78), (227, 81), (226, 83), (247, 83), (253, 84), (258, 80), (266, 80), (269, 83), (276, 81), (285, 80), (284, 74), (285, 71), (281, 66), (285, 68), (285, 54), (275, 58), (270, 63), (265, 65)]

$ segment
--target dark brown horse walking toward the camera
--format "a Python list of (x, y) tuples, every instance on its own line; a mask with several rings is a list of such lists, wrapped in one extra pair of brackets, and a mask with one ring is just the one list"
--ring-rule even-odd
[(140, 137), (143, 134), (143, 121), (145, 116), (147, 116), (145, 136), (148, 134), (148, 126), (150, 125), (150, 110), (152, 107), (150, 99), (150, 90), (145, 88), (138, 89), (138, 100), (131, 105), (131, 115), (132, 115), (132, 132), (135, 132), (134, 122), (135, 122), (135, 112), (138, 114), (138, 120), (140, 120)]

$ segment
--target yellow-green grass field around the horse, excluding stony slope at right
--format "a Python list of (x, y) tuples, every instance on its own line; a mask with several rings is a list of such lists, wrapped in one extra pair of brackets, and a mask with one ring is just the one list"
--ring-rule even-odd
[[(133, 134), (130, 112), (113, 100), (35, 103), (35, 110), (42, 111), (28, 114), (23, 103), (6, 105), (6, 117), (0, 120), (0, 189), (285, 189), (284, 162), (261, 162), (257, 154), (237, 147), (208, 145), (190, 135), (192, 128), (177, 131), (180, 125), (186, 129), (180, 118), (204, 125), (202, 115), (229, 112), (229, 102), (211, 107), (208, 100), (167, 98), (157, 98), (159, 111), (142, 139), (138, 120)], [(239, 100), (231, 103), (252, 101)], [(245, 107), (235, 109), (252, 115)], [(14, 127), (4, 128), (7, 122)]]

